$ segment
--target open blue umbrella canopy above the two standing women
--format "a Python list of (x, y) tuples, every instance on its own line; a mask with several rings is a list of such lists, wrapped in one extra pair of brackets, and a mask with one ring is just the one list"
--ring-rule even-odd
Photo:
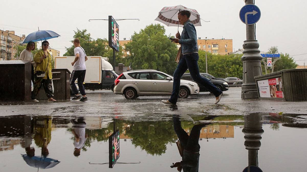
[(22, 43), (28, 43), (30, 41), (36, 42), (41, 40), (47, 40), (51, 38), (57, 38), (60, 35), (56, 32), (49, 31), (49, 30), (38, 30), (36, 32), (30, 33), (27, 37), (25, 37), (25, 40), (23, 40)]

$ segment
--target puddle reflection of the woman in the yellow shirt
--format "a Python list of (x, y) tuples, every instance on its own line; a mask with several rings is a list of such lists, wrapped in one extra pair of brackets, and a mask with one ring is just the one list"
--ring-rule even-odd
[(50, 116), (34, 118), (34, 141), (41, 147), (41, 155), (49, 155), (47, 145), (51, 140), (52, 119)]

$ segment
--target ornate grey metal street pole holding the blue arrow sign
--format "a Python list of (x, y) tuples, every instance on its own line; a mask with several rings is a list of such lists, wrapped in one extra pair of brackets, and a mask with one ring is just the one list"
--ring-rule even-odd
[[(245, 4), (254, 4), (254, 0), (246, 0)], [(241, 99), (258, 98), (257, 84), (255, 76), (262, 75), (261, 60), (259, 54), (259, 43), (255, 39), (255, 24), (246, 24), (246, 41), (243, 43), (243, 84), (241, 91)]]

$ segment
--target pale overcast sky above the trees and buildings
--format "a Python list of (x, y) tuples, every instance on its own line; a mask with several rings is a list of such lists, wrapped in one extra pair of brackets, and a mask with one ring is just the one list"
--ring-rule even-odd
[[(193, 2), (193, 3), (192, 3)], [(2, 1), (1, 30), (14, 30), (15, 34), (26, 36), (37, 27), (40, 30), (52, 30), (61, 36), (49, 39), (50, 46), (64, 54), (65, 47), (72, 45), (69, 41), (76, 28), (87, 29), (91, 37), (107, 38), (107, 21), (88, 21), (89, 19), (107, 19), (112, 15), (115, 19), (138, 18), (140, 21), (118, 21), (119, 38), (129, 39), (134, 32), (151, 23), (159, 23), (154, 19), (164, 6), (183, 5), (196, 9), (202, 21), (202, 26), (196, 27), (197, 36), (204, 39), (233, 39), (233, 48), (242, 48), (246, 40), (245, 24), (239, 19), (239, 10), (245, 5), (243, 0), (198, 0), (198, 1), (106, 1), (106, 0), (53, 0), (53, 1)], [(256, 39), (262, 51), (271, 46), (278, 46), (279, 52), (295, 55), (295, 60), (306, 59), (307, 30), (306, 1), (289, 0), (255, 0), (261, 10), (261, 18), (256, 24)], [(164, 24), (162, 24), (164, 25)], [(166, 34), (177, 32), (177, 27), (167, 27)], [(179, 32), (182, 28), (179, 28)], [(82, 46), (82, 45), (81, 45)], [(297, 55), (304, 54), (304, 55)], [(304, 61), (296, 61), (303, 65)]]

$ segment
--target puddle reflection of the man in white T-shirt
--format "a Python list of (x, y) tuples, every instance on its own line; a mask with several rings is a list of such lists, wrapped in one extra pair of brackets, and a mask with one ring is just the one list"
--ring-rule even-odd
[(85, 134), (85, 126), (86, 123), (84, 122), (84, 118), (78, 118), (77, 121), (71, 120), (72, 122), (72, 133), (75, 135), (74, 140), (74, 155), (79, 156), (81, 152), (81, 148), (84, 147), (86, 141), (86, 134)]

